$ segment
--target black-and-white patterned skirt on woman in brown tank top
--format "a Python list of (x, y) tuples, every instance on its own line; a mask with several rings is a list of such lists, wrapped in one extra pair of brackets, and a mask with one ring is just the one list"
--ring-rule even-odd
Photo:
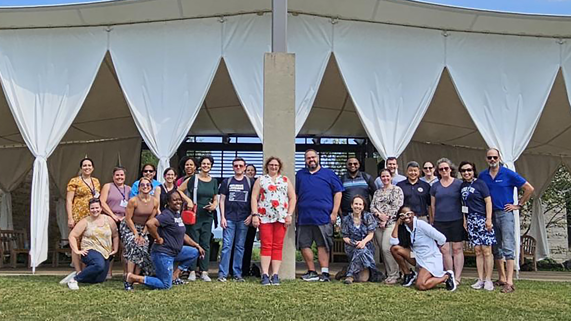
[(143, 235), (145, 240), (142, 245), (138, 245), (135, 243), (135, 234), (127, 226), (127, 222), (125, 220), (121, 221), (120, 236), (124, 246), (123, 258), (139, 266), (143, 275), (155, 275), (155, 268), (152, 265), (151, 255), (148, 251), (148, 236), (143, 234), (143, 228), (143, 225), (135, 223), (135, 229), (139, 235)]

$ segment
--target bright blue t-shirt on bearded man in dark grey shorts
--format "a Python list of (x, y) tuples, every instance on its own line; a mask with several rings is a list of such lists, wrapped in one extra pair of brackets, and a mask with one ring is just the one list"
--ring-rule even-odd
[(313, 174), (307, 168), (297, 171), (295, 174), (297, 223), (325, 225), (331, 222), (333, 195), (344, 190), (339, 177), (329, 168), (321, 167)]

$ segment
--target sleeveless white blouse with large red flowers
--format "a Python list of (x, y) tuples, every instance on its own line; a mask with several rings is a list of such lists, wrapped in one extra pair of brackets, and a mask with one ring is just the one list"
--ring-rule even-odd
[(260, 176), (258, 214), (261, 223), (286, 222), (287, 180), (286, 176), (278, 175), (274, 183), (270, 175)]

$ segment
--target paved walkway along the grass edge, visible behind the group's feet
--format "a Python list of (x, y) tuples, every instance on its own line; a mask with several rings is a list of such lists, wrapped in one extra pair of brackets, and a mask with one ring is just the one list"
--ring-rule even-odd
[[(329, 268), (331, 275), (335, 275), (338, 271), (343, 268), (345, 263), (332, 263)], [(259, 262), (256, 265), (260, 266)], [(305, 272), (305, 264), (296, 264), (296, 275), (299, 278), (301, 274)], [(319, 268), (317, 269), (319, 271)], [(382, 270), (382, 267), (381, 267)], [(65, 276), (72, 271), (70, 267), (38, 267), (36, 269), (36, 275), (55, 275), (55, 276)], [(211, 275), (216, 275), (218, 273), (218, 263), (211, 262), (210, 269), (208, 271)], [(4, 267), (0, 269), (0, 276), (14, 276), (14, 275), (31, 275), (32, 272), (26, 268), (9, 268)], [(122, 268), (119, 264), (115, 264), (113, 267), (114, 275), (121, 275)], [(464, 268), (463, 278), (477, 278), (476, 268), (467, 267)], [(494, 273), (494, 279), (497, 275)], [(537, 271), (537, 272), (520, 272), (521, 280), (535, 280), (535, 281), (555, 281), (555, 282), (571, 282), (571, 272), (555, 272), (555, 271)]]

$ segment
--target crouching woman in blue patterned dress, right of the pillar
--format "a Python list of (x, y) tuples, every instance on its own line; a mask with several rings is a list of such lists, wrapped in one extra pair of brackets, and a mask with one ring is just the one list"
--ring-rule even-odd
[(345, 253), (349, 258), (345, 284), (367, 282), (369, 269), (375, 269), (375, 246), (371, 240), (377, 228), (377, 220), (369, 212), (363, 212), (365, 199), (361, 195), (351, 200), (352, 214), (343, 217), (341, 232), (345, 242)]

